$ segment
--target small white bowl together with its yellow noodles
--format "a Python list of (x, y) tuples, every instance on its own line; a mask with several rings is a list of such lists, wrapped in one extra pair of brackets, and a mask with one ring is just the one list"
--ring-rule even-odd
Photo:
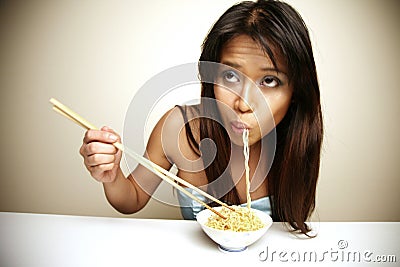
[(256, 209), (232, 206), (215, 207), (226, 219), (208, 209), (197, 214), (196, 220), (203, 231), (218, 244), (223, 252), (241, 252), (260, 239), (272, 225), (272, 218)]

